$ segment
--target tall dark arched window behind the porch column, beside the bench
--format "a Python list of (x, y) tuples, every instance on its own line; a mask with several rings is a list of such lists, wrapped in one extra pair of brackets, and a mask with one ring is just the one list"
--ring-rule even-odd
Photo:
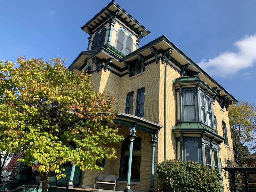
[[(130, 140), (125, 138), (122, 142), (121, 165), (119, 180), (126, 181), (128, 173)], [(131, 181), (139, 181), (141, 170), (141, 137), (133, 141), (133, 156), (131, 162)]]

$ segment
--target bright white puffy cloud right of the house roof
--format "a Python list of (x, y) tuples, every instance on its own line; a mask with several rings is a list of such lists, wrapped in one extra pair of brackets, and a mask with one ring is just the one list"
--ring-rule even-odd
[[(202, 59), (198, 63), (211, 75), (234, 77), (238, 71), (252, 67), (256, 62), (256, 34), (246, 35), (241, 40), (234, 43), (237, 51), (227, 51), (219, 54), (213, 59)], [(245, 74), (249, 75), (249, 74)]]

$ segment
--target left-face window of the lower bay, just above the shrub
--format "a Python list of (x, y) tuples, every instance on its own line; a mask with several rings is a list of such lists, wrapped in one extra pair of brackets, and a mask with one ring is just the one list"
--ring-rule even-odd
[(185, 161), (199, 162), (197, 142), (188, 141), (185, 143)]

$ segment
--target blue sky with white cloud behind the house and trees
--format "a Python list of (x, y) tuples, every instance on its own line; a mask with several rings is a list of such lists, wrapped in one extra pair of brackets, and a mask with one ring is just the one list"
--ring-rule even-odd
[[(80, 27), (109, 2), (1, 1), (0, 59), (60, 55), (69, 66), (87, 49)], [(256, 1), (116, 2), (151, 31), (141, 46), (166, 35), (235, 98), (255, 102)]]

